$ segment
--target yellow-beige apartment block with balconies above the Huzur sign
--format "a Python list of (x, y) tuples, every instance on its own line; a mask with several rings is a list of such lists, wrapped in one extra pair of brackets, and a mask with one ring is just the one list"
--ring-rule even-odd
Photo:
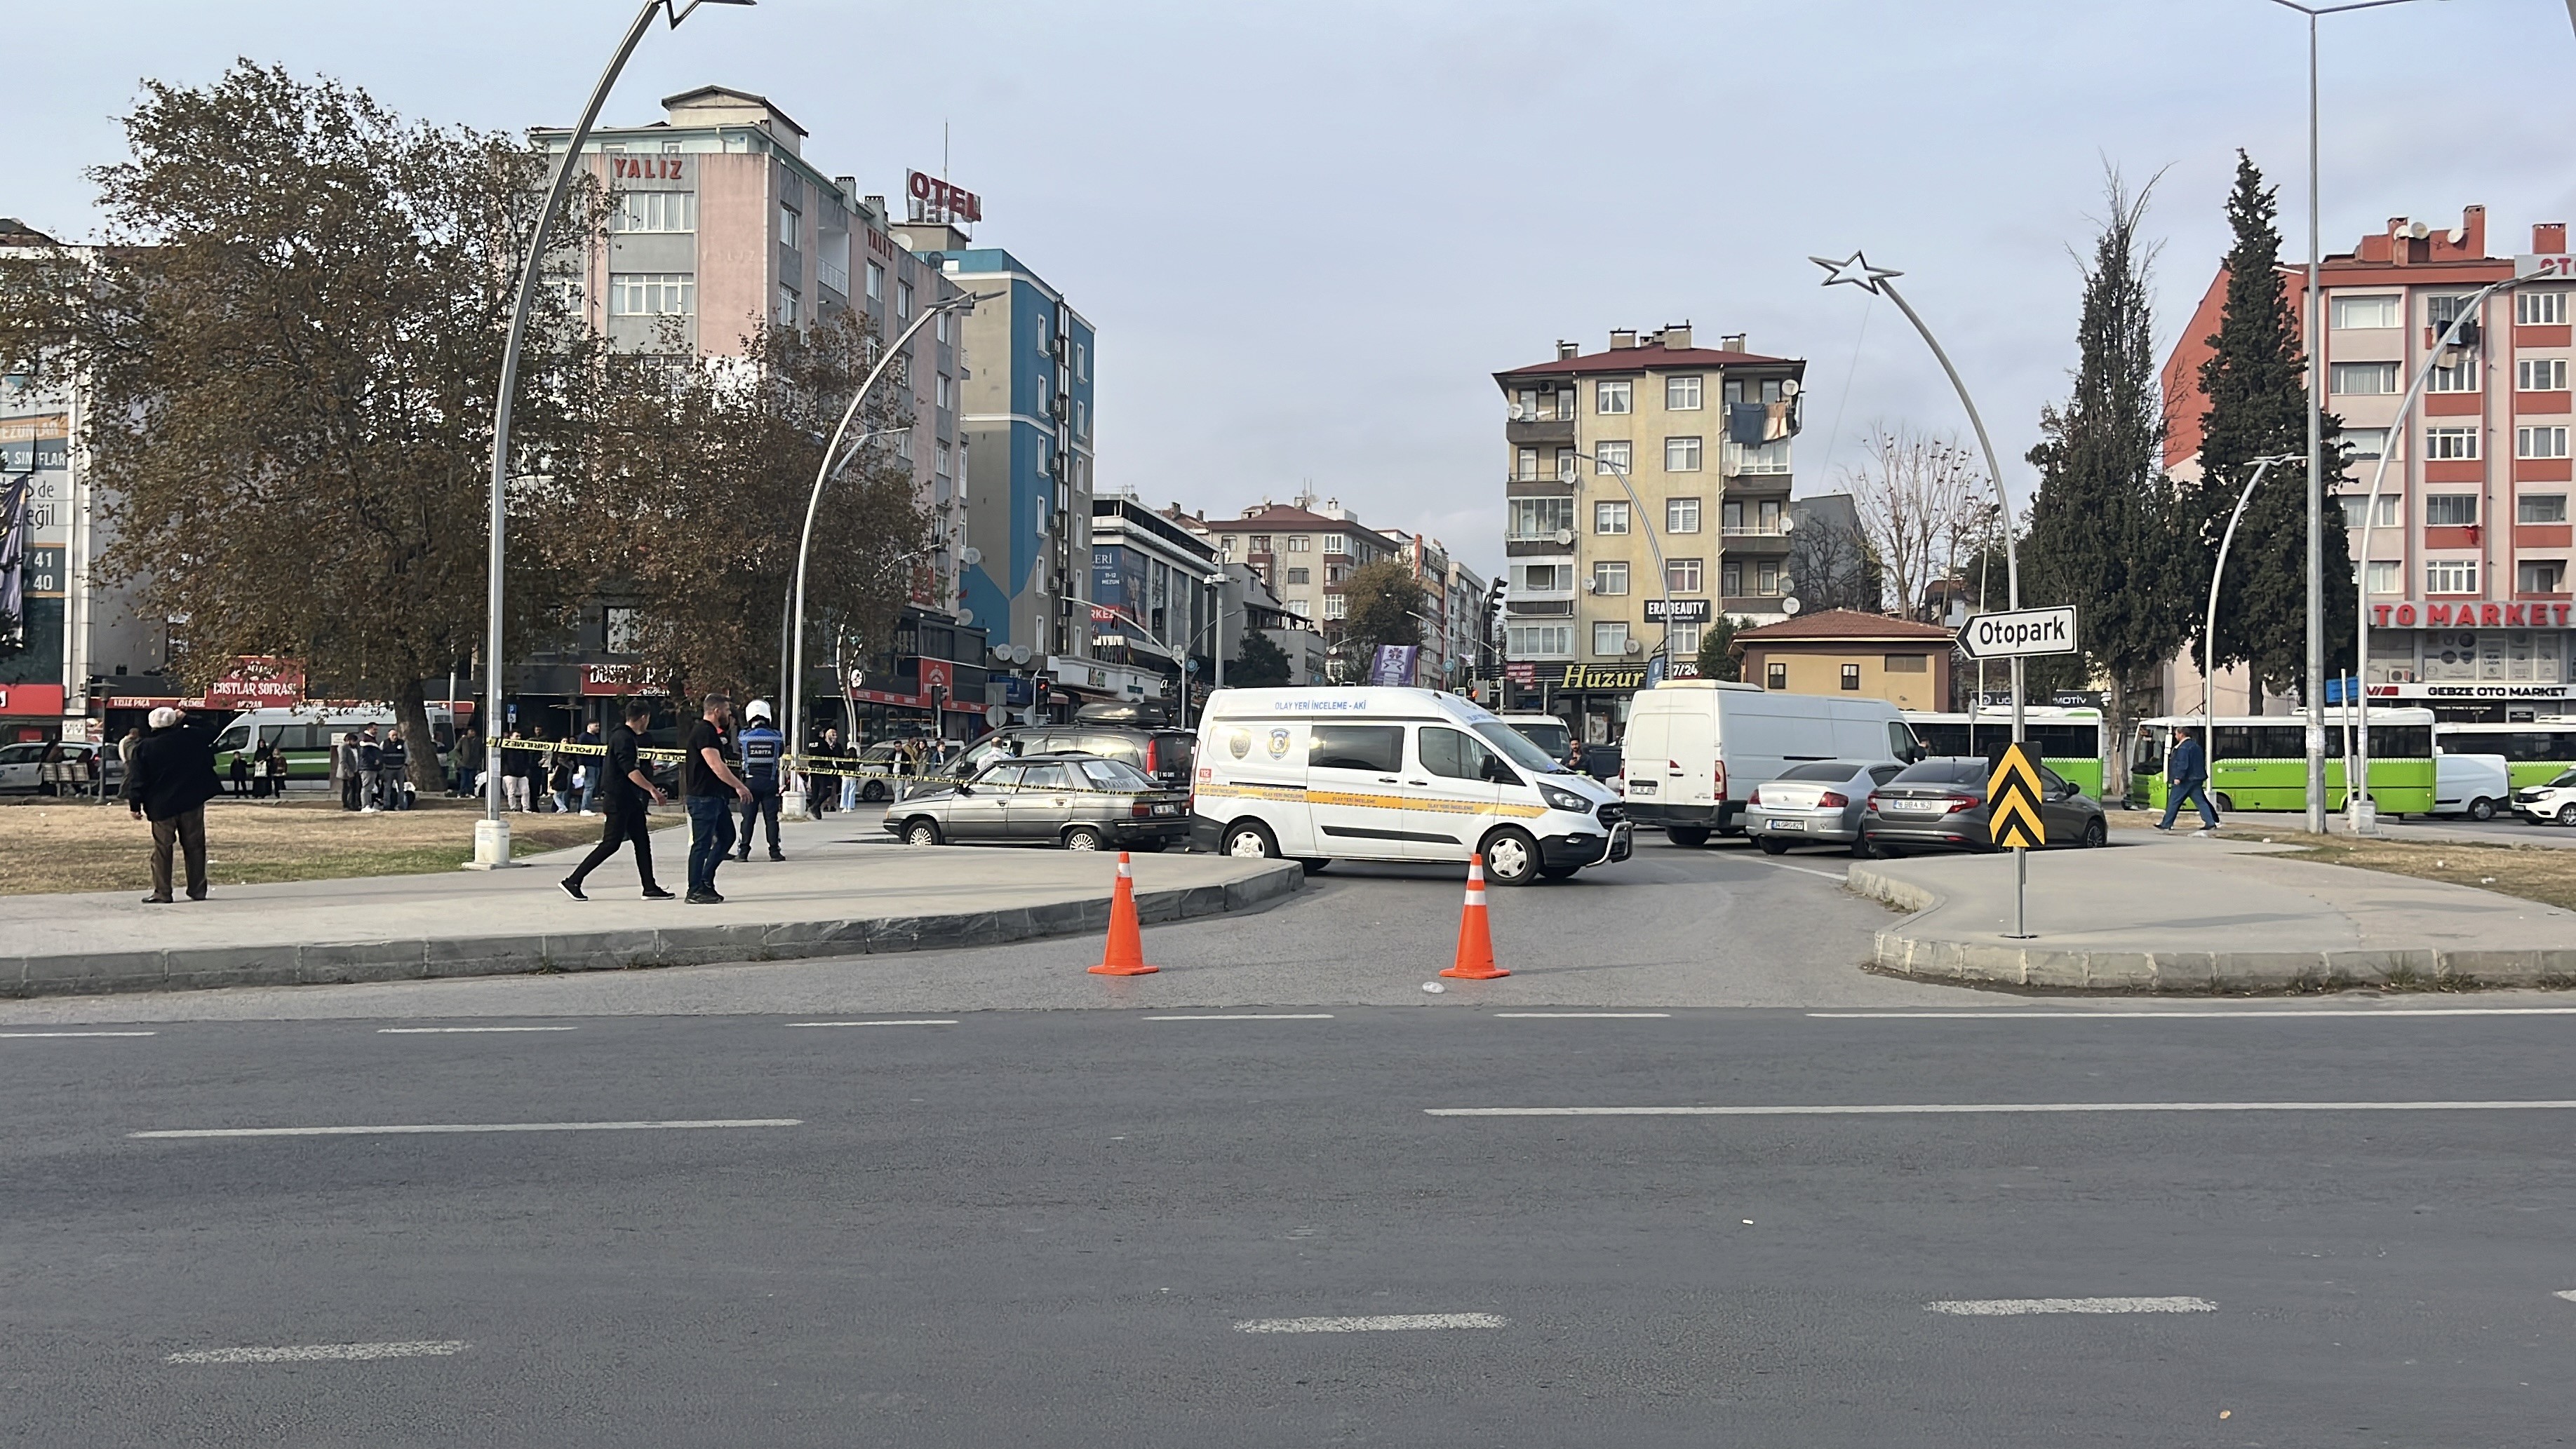
[(1695, 347), (1690, 324), (1618, 329), (1589, 355), (1558, 342), (1546, 363), (1494, 373), (1510, 404), (1515, 705), (1546, 700), (1610, 739), (1649, 661), (1695, 659), (1716, 613), (1785, 618), (1803, 378), (1803, 360), (1749, 353), (1741, 335)]

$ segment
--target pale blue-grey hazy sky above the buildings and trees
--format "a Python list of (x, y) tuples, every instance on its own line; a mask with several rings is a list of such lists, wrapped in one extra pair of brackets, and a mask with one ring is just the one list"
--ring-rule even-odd
[[(15, 214), (95, 224), (144, 75), (242, 54), (330, 72), (430, 121), (569, 124), (623, 0), (31, 5), (10, 21)], [(2324, 239), (2388, 216), (2488, 247), (2576, 219), (2563, 0), (2424, 0), (2324, 26)], [(1886, 304), (1811, 252), (1906, 270), (1986, 412), (2007, 481), (2074, 365), (2102, 165), (2164, 172), (2169, 340), (2226, 247), (2233, 149), (2306, 245), (2306, 28), (2267, 0), (1051, 3), (706, 8), (644, 41), (608, 106), (701, 82), (765, 93), (827, 172), (894, 193), (951, 126), (979, 242), (1100, 327), (1100, 484), (1239, 512), (1311, 481), (1365, 522), (1494, 569), (1489, 373), (1613, 327), (1811, 360), (1798, 486), (1870, 422), (1963, 427)], [(1837, 427), (1839, 420), (1839, 427)]]

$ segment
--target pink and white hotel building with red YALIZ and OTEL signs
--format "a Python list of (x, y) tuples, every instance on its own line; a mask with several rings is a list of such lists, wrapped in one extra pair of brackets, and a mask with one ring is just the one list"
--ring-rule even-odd
[[(533, 136), (562, 152), (572, 131)], [(616, 208), (605, 245), (585, 260), (590, 324), (631, 353), (677, 342), (696, 355), (739, 355), (762, 322), (801, 327), (842, 311), (863, 311), (891, 342), (920, 309), (956, 296), (935, 263), (896, 245), (886, 198), (824, 175), (804, 142), (806, 129), (768, 98), (721, 85), (665, 98), (662, 121), (595, 129), (582, 149)], [(902, 389), (912, 420), (891, 448), (909, 461), (933, 517), (935, 548), (914, 602), (938, 613), (961, 607), (969, 546), (956, 412), (963, 376), (958, 322), (943, 314), (878, 383)]]

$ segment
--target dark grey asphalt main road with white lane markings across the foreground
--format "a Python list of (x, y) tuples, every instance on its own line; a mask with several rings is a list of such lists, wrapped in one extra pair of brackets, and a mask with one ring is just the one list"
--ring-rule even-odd
[(0, 1035), (0, 1441), (2576, 1436), (2576, 1017), (2099, 1011)]

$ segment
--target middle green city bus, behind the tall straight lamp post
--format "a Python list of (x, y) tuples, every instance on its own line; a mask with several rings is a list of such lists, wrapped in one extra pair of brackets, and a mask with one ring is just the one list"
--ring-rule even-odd
[[(2326, 808), (2344, 808), (2344, 754), (2352, 713), (2326, 710)], [(2164, 752), (2182, 734), (2200, 734), (2200, 715), (2138, 721), (2128, 749), (2128, 800), (2164, 808)], [(2221, 811), (2308, 808), (2306, 715), (2218, 715), (2210, 752), (2210, 800)], [(2383, 816), (2432, 813), (2432, 710), (2370, 710), (2370, 795)]]

